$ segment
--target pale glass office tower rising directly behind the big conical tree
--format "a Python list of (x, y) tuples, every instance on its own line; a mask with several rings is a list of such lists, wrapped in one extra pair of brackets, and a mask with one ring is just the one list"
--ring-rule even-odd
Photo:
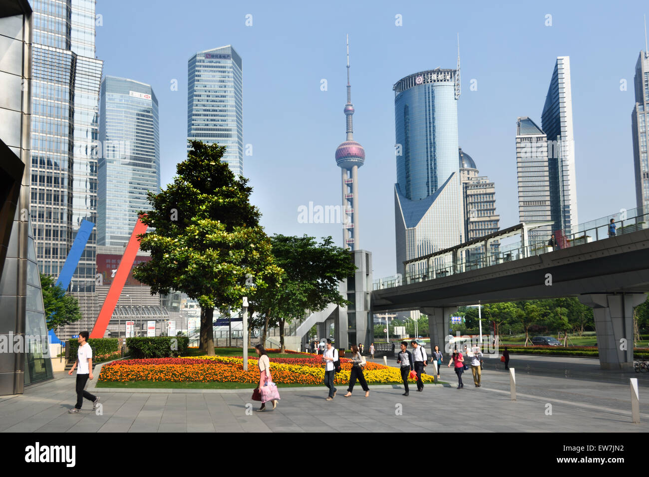
[(223, 160), (235, 175), (243, 174), (242, 75), (232, 45), (201, 51), (188, 62), (187, 138), (226, 146)]

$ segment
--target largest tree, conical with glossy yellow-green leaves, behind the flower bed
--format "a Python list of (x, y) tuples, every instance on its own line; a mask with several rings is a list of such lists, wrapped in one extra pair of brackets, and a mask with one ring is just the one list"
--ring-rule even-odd
[(282, 270), (250, 204), (252, 188), (221, 160), (225, 147), (190, 143), (173, 184), (148, 193), (152, 210), (142, 222), (151, 229), (140, 236), (140, 249), (150, 251), (151, 260), (133, 275), (152, 294), (174, 289), (198, 300), (201, 349), (213, 356), (214, 308), (239, 308), (242, 297), (277, 286)]

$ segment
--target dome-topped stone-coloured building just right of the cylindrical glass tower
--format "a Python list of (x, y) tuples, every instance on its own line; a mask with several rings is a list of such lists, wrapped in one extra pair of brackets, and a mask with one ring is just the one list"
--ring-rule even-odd
[[(464, 241), (498, 232), (500, 215), (496, 214), (496, 186), (486, 176), (478, 176), (476, 163), (469, 154), (459, 149), (459, 177), (462, 184)], [(499, 242), (490, 244), (489, 254), (498, 251)], [(481, 245), (467, 253), (469, 260), (484, 256)]]

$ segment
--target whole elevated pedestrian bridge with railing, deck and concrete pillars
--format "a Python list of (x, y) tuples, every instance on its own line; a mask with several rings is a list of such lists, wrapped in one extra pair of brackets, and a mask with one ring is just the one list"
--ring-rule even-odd
[[(616, 235), (609, 237), (611, 218)], [(633, 308), (649, 291), (647, 218), (640, 210), (623, 210), (582, 224), (559, 238), (557, 250), (547, 241), (530, 241), (530, 231), (547, 223), (522, 223), (408, 260), (406, 276), (374, 280), (372, 312), (421, 310), (429, 316), (431, 338), (443, 343), (457, 306), (577, 296), (594, 309), (602, 367), (630, 367)], [(493, 241), (516, 235), (517, 243), (467, 260), (467, 251), (489, 251)]]

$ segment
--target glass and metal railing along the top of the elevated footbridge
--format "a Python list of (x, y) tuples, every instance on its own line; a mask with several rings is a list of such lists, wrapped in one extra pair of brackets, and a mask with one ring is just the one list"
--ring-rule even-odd
[[(611, 219), (613, 222), (611, 223)], [(621, 209), (615, 214), (606, 215), (599, 219), (577, 225), (576, 232), (554, 232), (554, 245), (550, 241), (550, 222), (521, 223), (489, 234), (479, 239), (461, 243), (444, 251), (434, 252), (420, 258), (404, 262), (406, 276), (399, 274), (374, 280), (374, 289), (384, 289), (434, 280), (449, 275), (456, 275), (471, 270), (497, 265), (498, 263), (513, 262), (534, 255), (552, 252), (567, 247), (576, 247), (596, 240), (607, 239), (609, 236), (628, 234), (647, 228), (649, 213), (642, 208)], [(612, 228), (614, 225), (615, 228)], [(502, 238), (519, 235), (520, 239), (508, 245), (495, 243)], [(490, 252), (485, 254), (485, 251)]]

